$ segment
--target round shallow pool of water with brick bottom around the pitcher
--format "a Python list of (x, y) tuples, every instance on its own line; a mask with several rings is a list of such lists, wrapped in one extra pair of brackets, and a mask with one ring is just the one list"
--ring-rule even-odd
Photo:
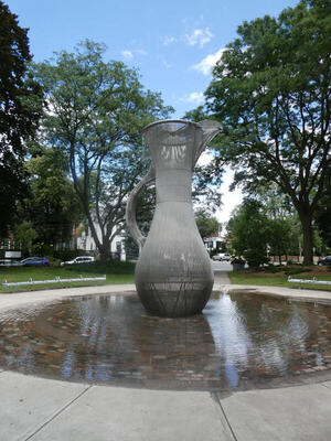
[(331, 306), (214, 293), (203, 314), (148, 315), (134, 293), (0, 315), (0, 367), (72, 381), (225, 390), (331, 378)]

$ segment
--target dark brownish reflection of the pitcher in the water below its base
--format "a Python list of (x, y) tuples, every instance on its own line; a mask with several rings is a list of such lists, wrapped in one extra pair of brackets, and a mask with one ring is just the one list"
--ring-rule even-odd
[(148, 379), (220, 379), (214, 340), (204, 314), (171, 321), (140, 315), (134, 325), (137, 351), (132, 365), (142, 367)]

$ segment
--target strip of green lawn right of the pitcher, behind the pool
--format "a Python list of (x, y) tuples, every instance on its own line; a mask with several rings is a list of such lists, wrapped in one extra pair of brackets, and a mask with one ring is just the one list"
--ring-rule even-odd
[[(232, 283), (234, 284), (258, 284), (265, 287), (287, 287), (287, 288), (299, 288), (299, 283), (289, 283), (287, 281), (288, 276), (284, 273), (264, 273), (264, 272), (250, 272), (247, 270), (244, 271), (234, 271), (228, 272), (228, 277)], [(312, 279), (313, 277), (317, 280), (328, 280), (331, 281), (331, 273), (322, 273), (322, 275), (293, 275), (291, 276), (292, 279)], [(313, 289), (313, 290), (323, 290), (323, 291), (331, 291), (331, 286), (327, 284), (308, 284), (302, 283), (301, 288), (305, 289)]]

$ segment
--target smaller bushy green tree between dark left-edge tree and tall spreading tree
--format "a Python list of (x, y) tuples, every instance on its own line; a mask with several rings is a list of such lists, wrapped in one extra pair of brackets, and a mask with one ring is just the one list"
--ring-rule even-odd
[(30, 195), (22, 213), (38, 233), (40, 243), (56, 245), (73, 236), (82, 219), (82, 206), (72, 181), (65, 154), (56, 148), (34, 147), (26, 162)]

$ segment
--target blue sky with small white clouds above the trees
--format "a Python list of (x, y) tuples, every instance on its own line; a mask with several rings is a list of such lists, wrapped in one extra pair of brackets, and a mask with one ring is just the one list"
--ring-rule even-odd
[[(278, 15), (292, 0), (3, 0), (19, 23), (29, 28), (35, 62), (54, 51), (72, 52), (85, 39), (108, 46), (105, 60), (137, 67), (145, 87), (160, 92), (174, 118), (203, 103), (211, 67), (222, 49), (236, 36), (237, 26), (265, 14)], [(241, 201), (222, 191), (225, 222)], [(228, 197), (228, 201), (226, 200)]]

